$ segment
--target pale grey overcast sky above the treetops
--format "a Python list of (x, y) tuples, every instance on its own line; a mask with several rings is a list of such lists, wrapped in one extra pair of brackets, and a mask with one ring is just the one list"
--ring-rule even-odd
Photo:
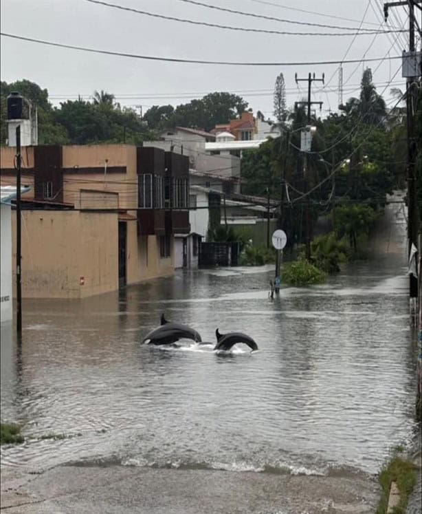
[[(290, 32), (351, 32), (271, 21), (222, 12), (181, 0), (104, 0), (129, 8), (195, 21), (241, 28)], [(340, 27), (377, 30), (395, 25), (407, 28), (404, 8), (390, 10), (389, 23), (379, 0), (198, 0), (254, 14)], [(304, 12), (311, 11), (311, 12)], [(316, 13), (318, 11), (318, 14)], [(366, 14), (365, 14), (366, 12)], [(381, 25), (382, 23), (382, 25)], [(344, 100), (358, 96), (362, 70), (373, 69), (377, 91), (390, 98), (391, 87), (404, 88), (401, 61), (407, 34), (347, 36), (278, 35), (240, 32), (180, 23), (118, 10), (87, 0), (1, 0), (1, 31), (20, 36), (149, 56), (241, 62), (313, 62), (381, 58), (378, 62), (344, 64)], [(351, 45), (351, 46), (350, 46)], [(350, 48), (349, 48), (350, 46)], [(399, 70), (397, 72), (397, 70)], [(307, 78), (325, 74), (325, 86), (313, 84), (313, 100), (324, 102), (322, 116), (338, 103), (338, 65), (236, 67), (144, 61), (48, 47), (1, 37), (1, 80), (27, 78), (48, 89), (53, 103), (78, 94), (89, 98), (95, 89), (115, 94), (122, 105), (188, 103), (208, 92), (240, 94), (254, 112), (272, 116), (276, 76), (282, 72), (287, 104), (307, 94), (307, 83), (296, 85), (295, 73)], [(396, 74), (397, 72), (397, 74)], [(396, 74), (396, 75), (395, 75)], [(395, 76), (395, 78), (394, 78)], [(390, 84), (389, 84), (390, 83)], [(131, 98), (129, 98), (131, 96)]]

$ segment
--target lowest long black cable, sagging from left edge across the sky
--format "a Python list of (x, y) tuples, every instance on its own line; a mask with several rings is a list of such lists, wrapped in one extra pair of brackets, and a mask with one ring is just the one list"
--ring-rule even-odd
[[(350, 34), (349, 34), (350, 35)], [(64, 43), (54, 43), (53, 41), (43, 41), (42, 39), (35, 39), (25, 36), (18, 36), (16, 34), (9, 34), (7, 32), (0, 32), (0, 36), (10, 37), (12, 39), (20, 39), (21, 41), (28, 41), (30, 43), (39, 43), (41, 45), (48, 45), (60, 48), (69, 48), (70, 50), (80, 50), (81, 52), (91, 52), (93, 54), (105, 54), (119, 57), (129, 57), (136, 59), (146, 59), (147, 61), (166, 61), (169, 63), (188, 63), (188, 64), (210, 64), (210, 65), (222, 65), (222, 66), (316, 66), (316, 65), (331, 65), (331, 64), (349, 64), (359, 63), (360, 59), (348, 59), (348, 61), (309, 61), (309, 62), (288, 62), (288, 63), (239, 63), (236, 61), (202, 61), (200, 59), (184, 59), (174, 57), (157, 57), (157, 56), (146, 56), (139, 54), (127, 54), (124, 52), (112, 52), (111, 50), (96, 50), (94, 48), (87, 48), (76, 45), (65, 45)], [(390, 56), (388, 59), (401, 59), (401, 55)], [(379, 57), (373, 57), (366, 59), (366, 62), (379, 61)]]

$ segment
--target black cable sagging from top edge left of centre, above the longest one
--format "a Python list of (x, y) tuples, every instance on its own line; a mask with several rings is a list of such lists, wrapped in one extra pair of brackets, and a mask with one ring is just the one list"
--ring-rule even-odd
[[(166, 16), (165, 14), (157, 14), (156, 12), (149, 12), (140, 9), (134, 9), (126, 6), (119, 6), (116, 3), (107, 3), (102, 0), (85, 0), (89, 3), (95, 3), (99, 6), (105, 6), (113, 9), (124, 10), (127, 12), (135, 12), (142, 16), (149, 16), (153, 18), (164, 19), (168, 21), (177, 21), (179, 23), (190, 23), (190, 25), (201, 25), (203, 27), (219, 28), (223, 30), (236, 30), (240, 32), (256, 32), (260, 34), (277, 34), (279, 36), (352, 36), (353, 32), (288, 32), (285, 30), (269, 30), (269, 29), (257, 29), (257, 28), (246, 28), (246, 27), (233, 27), (232, 25), (220, 25), (219, 23), (209, 23), (208, 21), (195, 21), (185, 18), (177, 18), (174, 16)], [(365, 34), (375, 34), (375, 30), (369, 30)], [(382, 33), (389, 34), (390, 32), (397, 32), (397, 30), (383, 30)], [(356, 32), (359, 34), (359, 32)], [(360, 34), (364, 35), (364, 34)]]

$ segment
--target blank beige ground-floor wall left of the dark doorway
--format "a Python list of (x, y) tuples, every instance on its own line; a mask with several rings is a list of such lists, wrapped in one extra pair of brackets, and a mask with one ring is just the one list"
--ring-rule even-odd
[(22, 218), (23, 297), (83, 298), (118, 288), (117, 213), (23, 211)]

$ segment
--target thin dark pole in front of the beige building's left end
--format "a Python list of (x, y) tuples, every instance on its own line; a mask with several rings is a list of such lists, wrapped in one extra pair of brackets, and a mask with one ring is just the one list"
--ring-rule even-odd
[(16, 331), (22, 332), (22, 288), (21, 288), (21, 126), (16, 127)]

